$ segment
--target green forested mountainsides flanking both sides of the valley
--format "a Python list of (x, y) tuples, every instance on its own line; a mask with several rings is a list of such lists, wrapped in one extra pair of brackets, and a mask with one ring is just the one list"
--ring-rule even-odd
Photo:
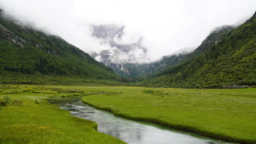
[[(0, 10), (1, 12), (1, 10)], [(209, 88), (255, 85), (256, 12), (237, 28), (216, 27), (192, 53), (115, 72), (61, 37), (44, 34), (0, 15), (0, 83), (102, 83), (145, 87)], [(129, 79), (125, 72), (130, 72)], [(138, 77), (139, 76), (139, 77)], [(138, 82), (139, 81), (139, 82)]]

